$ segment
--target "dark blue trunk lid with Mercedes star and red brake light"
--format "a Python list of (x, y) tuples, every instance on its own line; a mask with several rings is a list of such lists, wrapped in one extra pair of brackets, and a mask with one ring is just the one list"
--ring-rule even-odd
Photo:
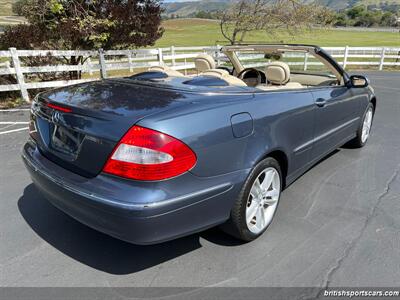
[(184, 105), (184, 98), (176, 90), (111, 80), (56, 89), (32, 104), (31, 136), (51, 161), (94, 177), (130, 127), (146, 116)]

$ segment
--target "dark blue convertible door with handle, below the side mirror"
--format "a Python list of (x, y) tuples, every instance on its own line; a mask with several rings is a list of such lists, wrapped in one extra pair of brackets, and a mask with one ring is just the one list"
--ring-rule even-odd
[(355, 133), (359, 101), (344, 85), (313, 88), (311, 92), (316, 106), (312, 158), (318, 159)]

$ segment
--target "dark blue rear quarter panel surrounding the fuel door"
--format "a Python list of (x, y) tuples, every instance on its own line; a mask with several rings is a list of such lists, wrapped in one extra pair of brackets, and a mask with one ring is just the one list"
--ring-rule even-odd
[[(308, 162), (312, 141), (314, 101), (308, 91), (260, 92), (238, 95), (192, 95), (192, 104), (149, 116), (138, 125), (170, 134), (197, 155), (192, 173), (211, 177), (250, 170), (272, 151), (288, 160), (288, 175)], [(232, 132), (231, 116), (246, 112), (253, 131), (241, 138)], [(311, 145), (310, 145), (311, 148)]]

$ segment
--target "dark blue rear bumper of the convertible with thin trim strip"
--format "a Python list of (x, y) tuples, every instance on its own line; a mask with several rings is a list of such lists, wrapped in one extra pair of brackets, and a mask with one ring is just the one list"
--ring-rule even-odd
[(85, 178), (45, 158), (33, 141), (23, 161), (56, 207), (98, 231), (135, 244), (154, 244), (223, 223), (247, 170), (200, 178), (186, 173), (160, 182), (99, 174)]

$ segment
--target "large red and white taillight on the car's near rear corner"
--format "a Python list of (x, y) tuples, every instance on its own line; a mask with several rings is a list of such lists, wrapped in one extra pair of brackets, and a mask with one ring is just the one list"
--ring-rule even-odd
[(115, 147), (103, 171), (136, 180), (163, 180), (181, 175), (195, 164), (196, 155), (183, 142), (133, 126)]

